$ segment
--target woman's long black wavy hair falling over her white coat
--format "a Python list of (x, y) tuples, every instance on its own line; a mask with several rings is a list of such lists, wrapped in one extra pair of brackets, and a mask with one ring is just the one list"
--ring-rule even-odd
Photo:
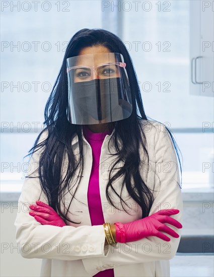
[[(80, 50), (82, 50), (83, 48), (96, 45), (102, 45), (104, 47), (107, 47), (111, 52), (121, 53), (123, 55), (124, 61), (126, 62), (126, 71), (130, 83), (132, 97), (131, 115), (126, 119), (108, 123), (109, 129), (113, 129), (112, 140), (114, 141), (113, 145), (116, 150), (117, 157), (117, 160), (114, 163), (113, 167), (117, 164), (120, 164), (121, 162), (123, 166), (119, 168), (118, 172), (114, 176), (110, 177), (109, 175), (109, 181), (106, 186), (106, 197), (109, 203), (111, 203), (116, 209), (118, 209), (118, 207), (115, 206), (113, 201), (111, 200), (111, 196), (109, 194), (109, 188), (111, 188), (114, 191), (114, 193), (116, 193), (119, 197), (121, 204), (122, 202), (125, 203), (125, 201), (121, 198), (121, 193), (119, 195), (112, 186), (112, 182), (114, 182), (117, 178), (123, 176), (124, 179), (121, 187), (121, 192), (125, 185), (129, 195), (141, 207), (142, 218), (147, 217), (149, 215), (151, 206), (154, 201), (152, 191), (146, 185), (145, 181), (142, 179), (139, 172), (139, 166), (142, 162), (145, 162), (145, 165), (149, 165), (149, 155), (146, 147), (147, 141), (144, 129), (142, 128), (142, 119), (148, 120), (148, 122), (149, 119), (147, 118), (144, 111), (144, 106), (142, 104), (140, 90), (137, 83), (137, 77), (132, 65), (132, 60), (123, 42), (120, 40), (119, 37), (117, 37), (113, 33), (98, 28), (82, 29), (78, 31), (72, 37), (72, 39), (70, 39), (67, 45), (62, 61), (62, 66), (60, 68), (59, 74), (57, 76), (51, 94), (45, 106), (45, 121), (43, 122), (45, 128), (40, 132), (40, 134), (36, 138), (34, 146), (29, 151), (29, 154), (26, 155), (32, 155), (39, 149), (43, 149), (43, 151), (41, 152), (41, 156), (39, 158), (38, 167), (38, 177), (40, 180), (42, 190), (45, 192), (45, 195), (47, 196), (48, 204), (51, 207), (53, 207), (55, 211), (58, 211), (58, 214), (63, 219), (72, 223), (75, 222), (70, 221), (67, 218), (67, 212), (70, 203), (72, 202), (73, 197), (75, 196), (76, 191), (79, 187), (82, 172), (84, 170), (82, 137), (83, 126), (77, 124), (70, 124), (66, 117), (66, 107), (68, 102), (66, 58), (77, 56)], [(137, 114), (137, 109), (139, 114)], [(175, 143), (171, 131), (168, 129), (167, 126), (166, 128), (172, 138), (174, 147), (176, 149), (176, 153), (178, 155), (176, 147), (177, 144)], [(42, 143), (38, 144), (39, 138), (44, 131), (47, 131), (47, 137)], [(71, 144), (72, 140), (76, 135), (78, 135), (79, 159), (76, 158)], [(118, 146), (118, 141), (120, 141), (122, 144), (121, 148), (119, 148)], [(142, 146), (145, 152), (144, 161), (142, 161), (142, 157), (139, 157), (140, 145)], [(68, 164), (66, 168), (65, 178), (61, 180), (61, 169), (65, 153), (67, 155)], [(179, 164), (181, 169), (180, 159)], [(77, 171), (79, 166), (81, 169), (81, 173), (79, 174), (80, 180), (75, 189), (75, 193), (73, 195), (71, 194), (72, 197), (70, 197), (71, 200), (67, 207), (67, 212), (66, 214), (64, 214), (64, 212), (60, 210), (60, 201), (62, 200), (63, 203), (63, 197), (65, 195), (66, 190), (70, 192), (70, 180), (74, 176), (77, 176), (75, 172)], [(149, 171), (147, 170), (147, 172)], [(30, 176), (26, 177), (31, 178)], [(134, 185), (131, 184), (132, 178)], [(72, 184), (74, 183), (72, 182)]]

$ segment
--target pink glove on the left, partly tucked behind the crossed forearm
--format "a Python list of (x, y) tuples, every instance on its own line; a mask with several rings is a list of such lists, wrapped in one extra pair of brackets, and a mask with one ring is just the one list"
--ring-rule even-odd
[(32, 211), (29, 215), (34, 217), (35, 220), (40, 222), (42, 225), (53, 225), (58, 227), (66, 226), (60, 216), (53, 210), (53, 208), (42, 201), (37, 200), (37, 205), (29, 205)]

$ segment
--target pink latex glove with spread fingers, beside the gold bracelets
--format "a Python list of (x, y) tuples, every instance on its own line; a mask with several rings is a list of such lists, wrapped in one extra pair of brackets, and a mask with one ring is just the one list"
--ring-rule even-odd
[(183, 226), (175, 219), (170, 218), (171, 215), (179, 213), (177, 209), (160, 210), (157, 213), (129, 223), (114, 223), (116, 229), (116, 242), (131, 242), (140, 240), (149, 236), (156, 236), (165, 241), (170, 238), (159, 231), (164, 231), (172, 237), (179, 238), (179, 235), (164, 223), (169, 223), (177, 228)]

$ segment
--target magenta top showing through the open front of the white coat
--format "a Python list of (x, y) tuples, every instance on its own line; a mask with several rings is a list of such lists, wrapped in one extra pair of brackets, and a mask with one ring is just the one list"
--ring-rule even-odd
[[(86, 125), (83, 126), (83, 134), (92, 148), (92, 171), (89, 179), (88, 187), (88, 205), (89, 213), (91, 218), (91, 224), (101, 225), (105, 223), (103, 217), (103, 210), (100, 198), (100, 188), (99, 188), (99, 163), (101, 147), (106, 134), (111, 134), (111, 131), (105, 131), (102, 133), (92, 132)], [(104, 232), (104, 229), (103, 229)], [(114, 269), (106, 269), (98, 272), (93, 277), (114, 277)]]

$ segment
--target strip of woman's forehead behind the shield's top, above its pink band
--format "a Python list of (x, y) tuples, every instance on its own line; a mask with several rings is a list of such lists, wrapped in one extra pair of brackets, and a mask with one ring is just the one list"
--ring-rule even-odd
[(100, 63), (116, 62), (115, 53), (92, 53), (75, 57), (76, 66), (79, 65), (98, 65)]

